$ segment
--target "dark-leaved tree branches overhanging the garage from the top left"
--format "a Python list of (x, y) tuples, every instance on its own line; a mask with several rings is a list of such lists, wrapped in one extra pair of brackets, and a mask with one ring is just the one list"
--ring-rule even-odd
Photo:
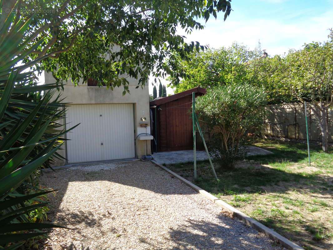
[[(203, 29), (196, 20), (206, 21), (219, 11), (231, 11), (230, 0), (218, 1), (2, 1), (5, 10), (17, 11), (16, 20), (34, 15), (28, 31), (28, 44), (44, 38), (24, 59), (26, 67), (52, 72), (57, 81), (74, 83), (93, 78), (113, 89), (124, 87), (129, 92), (124, 74), (145, 85), (151, 72), (164, 77), (165, 58), (177, 51), (182, 56), (199, 47), (184, 44), (177, 28), (190, 33)], [(42, 11), (24, 11), (42, 10)], [(4, 26), (5, 15), (0, 18)], [(29, 51), (30, 52), (30, 51)], [(36, 64), (37, 63), (37, 64)], [(167, 69), (166, 69), (167, 70)]]

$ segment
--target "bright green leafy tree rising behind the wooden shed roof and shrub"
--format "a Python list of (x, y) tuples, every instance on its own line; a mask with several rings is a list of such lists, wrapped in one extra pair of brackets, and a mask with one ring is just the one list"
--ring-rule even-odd
[(253, 67), (250, 62), (260, 58), (260, 51), (233, 43), (229, 48), (194, 51), (188, 60), (183, 60), (179, 54), (175, 58), (179, 67), (168, 79), (175, 93), (179, 93), (197, 86), (212, 88), (233, 82), (256, 82), (256, 75), (247, 72)]

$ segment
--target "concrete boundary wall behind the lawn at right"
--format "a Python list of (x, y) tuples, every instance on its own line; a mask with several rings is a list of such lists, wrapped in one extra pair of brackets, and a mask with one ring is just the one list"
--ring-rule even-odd
[[(314, 103), (306, 104), (309, 140), (322, 141), (318, 120), (310, 107), (319, 111)], [(304, 104), (283, 104), (267, 106), (268, 115), (262, 133), (266, 136), (306, 140), (305, 109)], [(333, 143), (333, 109), (326, 113), (328, 120), (328, 142)]]

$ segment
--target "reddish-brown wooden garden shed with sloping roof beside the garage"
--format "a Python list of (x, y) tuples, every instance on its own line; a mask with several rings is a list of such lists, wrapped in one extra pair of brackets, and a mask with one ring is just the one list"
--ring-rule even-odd
[[(206, 90), (197, 87), (150, 101), (152, 135), (157, 142), (157, 152), (193, 149), (192, 92), (197, 97), (204, 95)], [(156, 145), (152, 144), (156, 152)]]

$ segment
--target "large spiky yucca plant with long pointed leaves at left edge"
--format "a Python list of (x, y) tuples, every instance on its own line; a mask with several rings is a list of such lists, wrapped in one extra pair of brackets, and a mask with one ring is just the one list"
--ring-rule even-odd
[[(43, 42), (26, 36), (30, 21), (10, 13), (0, 30), (0, 249), (6, 250), (45, 234), (40, 229), (60, 227), (29, 221), (30, 211), (47, 204), (38, 196), (53, 190), (39, 192), (23, 184), (55, 155), (64, 140), (59, 137), (68, 132), (57, 130), (56, 120), (64, 115), (60, 97), (51, 102), (50, 90), (59, 86), (37, 85), (34, 73), (23, 71), (33, 63), (20, 64)], [(32, 199), (37, 204), (27, 205)]]

